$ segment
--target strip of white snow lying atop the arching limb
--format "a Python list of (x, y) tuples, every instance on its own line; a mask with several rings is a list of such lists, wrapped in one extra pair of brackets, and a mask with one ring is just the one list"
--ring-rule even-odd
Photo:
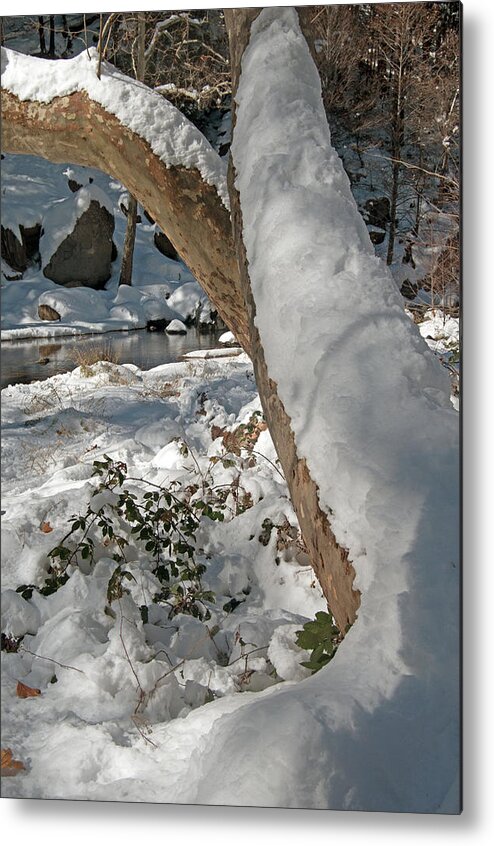
[(226, 165), (201, 132), (160, 94), (130, 80), (107, 62), (98, 79), (95, 47), (73, 59), (47, 62), (2, 47), (2, 87), (20, 100), (50, 103), (85, 92), (148, 142), (167, 167), (196, 168), (228, 208)]

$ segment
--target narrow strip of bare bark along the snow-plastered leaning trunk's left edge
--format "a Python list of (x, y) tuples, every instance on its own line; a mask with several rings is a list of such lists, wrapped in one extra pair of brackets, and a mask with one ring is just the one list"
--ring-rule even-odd
[[(242, 55), (250, 38), (250, 29), (260, 9), (225, 9), (230, 38), (233, 94), (238, 87)], [(235, 113), (233, 115), (235, 132)], [(354, 569), (347, 550), (336, 542), (327, 514), (319, 504), (318, 489), (305, 460), (297, 453), (291, 420), (281, 402), (275, 382), (270, 378), (262, 341), (255, 324), (256, 305), (252, 297), (248, 261), (243, 242), (242, 208), (234, 185), (234, 164), (230, 159), (228, 185), (232, 204), (232, 225), (240, 268), (242, 291), (247, 305), (251, 333), (251, 357), (257, 386), (269, 431), (278, 453), (290, 496), (297, 513), (309, 558), (340, 630), (354, 622), (360, 594), (353, 589)]]

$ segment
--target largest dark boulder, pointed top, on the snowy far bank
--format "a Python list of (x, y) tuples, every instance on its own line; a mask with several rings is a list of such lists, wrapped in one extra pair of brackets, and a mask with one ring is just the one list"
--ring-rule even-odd
[(102, 288), (111, 276), (114, 229), (113, 215), (97, 200), (91, 200), (43, 274), (65, 287)]

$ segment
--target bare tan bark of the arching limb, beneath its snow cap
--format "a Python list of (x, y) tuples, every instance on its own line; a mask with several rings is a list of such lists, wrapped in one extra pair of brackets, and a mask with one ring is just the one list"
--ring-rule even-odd
[(146, 141), (83, 92), (38, 103), (3, 90), (1, 105), (4, 152), (96, 167), (122, 182), (166, 232), (250, 352), (230, 215), (199, 171), (166, 167)]

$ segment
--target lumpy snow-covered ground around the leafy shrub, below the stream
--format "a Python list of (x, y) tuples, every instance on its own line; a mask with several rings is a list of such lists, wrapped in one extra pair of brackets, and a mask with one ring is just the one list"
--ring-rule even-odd
[[(95, 491), (94, 460), (110, 454), (128, 462), (129, 476), (159, 484), (229, 485), (237, 468), (211, 462), (224, 454), (212, 427), (235, 430), (258, 409), (245, 354), (149, 371), (102, 362), (91, 376), (77, 368), (2, 392), (2, 631), (24, 636), (18, 652), (2, 654), (2, 743), (27, 768), (4, 779), (5, 796), (195, 801), (195, 756), (212, 727), (306, 675), (294, 633), (324, 601), (295, 547), (277, 561), (276, 530), (267, 545), (258, 540), (267, 517), (295, 525), (267, 431), (255, 463), (239, 459), (252, 506), (236, 517), (227, 509), (198, 537), (216, 597), (211, 619), (170, 618), (154, 604), (159, 583), (135, 549), (130, 593), (110, 613), (116, 565), (104, 547), (92, 570), (75, 568), (55, 593), (15, 592), (43, 584), (71, 515), (90, 500), (95, 511), (114, 501)], [(234, 610), (223, 610), (233, 598)], [(41, 695), (17, 698), (17, 681)]]

